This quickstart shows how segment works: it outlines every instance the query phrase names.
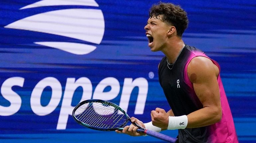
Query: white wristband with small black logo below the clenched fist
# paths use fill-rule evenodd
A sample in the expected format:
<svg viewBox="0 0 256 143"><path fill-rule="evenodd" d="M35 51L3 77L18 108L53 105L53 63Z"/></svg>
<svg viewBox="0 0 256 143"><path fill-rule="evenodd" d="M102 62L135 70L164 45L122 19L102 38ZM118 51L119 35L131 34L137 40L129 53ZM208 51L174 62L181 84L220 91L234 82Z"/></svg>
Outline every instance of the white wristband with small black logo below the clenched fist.
<svg viewBox="0 0 256 143"><path fill-rule="evenodd" d="M188 125L188 117L183 116L169 116L169 124L167 129L185 129Z"/></svg>

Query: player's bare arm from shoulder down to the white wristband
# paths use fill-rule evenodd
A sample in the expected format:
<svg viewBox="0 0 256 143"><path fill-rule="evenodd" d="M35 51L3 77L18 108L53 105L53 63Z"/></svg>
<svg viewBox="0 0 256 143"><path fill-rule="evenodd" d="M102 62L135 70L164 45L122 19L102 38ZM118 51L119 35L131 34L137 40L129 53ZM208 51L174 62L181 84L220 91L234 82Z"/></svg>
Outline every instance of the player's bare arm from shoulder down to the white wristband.
<svg viewBox="0 0 256 143"><path fill-rule="evenodd" d="M222 117L218 67L206 57L198 56L188 65L188 76L203 108L187 115L187 128L202 127L219 122Z"/></svg>

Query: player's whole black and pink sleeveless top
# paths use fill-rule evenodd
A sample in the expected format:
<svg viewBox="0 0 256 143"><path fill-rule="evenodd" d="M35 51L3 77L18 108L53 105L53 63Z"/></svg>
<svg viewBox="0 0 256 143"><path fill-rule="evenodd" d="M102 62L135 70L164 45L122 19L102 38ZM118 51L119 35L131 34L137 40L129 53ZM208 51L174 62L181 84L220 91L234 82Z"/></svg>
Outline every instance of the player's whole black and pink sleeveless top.
<svg viewBox="0 0 256 143"><path fill-rule="evenodd" d="M166 57L159 64L159 82L175 116L188 115L203 108L187 73L189 62L196 56L209 58L202 51L185 45L172 67L167 66ZM218 63L212 59L211 61L220 70ZM221 121L205 127L179 129L179 143L238 143L233 117L220 74L217 81L222 107Z"/></svg>

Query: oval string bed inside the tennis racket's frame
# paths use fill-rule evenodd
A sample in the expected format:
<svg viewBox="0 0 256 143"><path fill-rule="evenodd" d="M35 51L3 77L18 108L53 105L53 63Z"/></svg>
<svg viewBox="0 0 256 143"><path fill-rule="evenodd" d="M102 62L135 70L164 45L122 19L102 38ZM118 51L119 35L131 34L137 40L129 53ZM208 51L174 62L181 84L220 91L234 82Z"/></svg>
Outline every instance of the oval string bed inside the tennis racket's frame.
<svg viewBox="0 0 256 143"><path fill-rule="evenodd" d="M106 103L86 103L76 109L74 115L80 122L99 128L121 127L127 117L118 108Z"/></svg>

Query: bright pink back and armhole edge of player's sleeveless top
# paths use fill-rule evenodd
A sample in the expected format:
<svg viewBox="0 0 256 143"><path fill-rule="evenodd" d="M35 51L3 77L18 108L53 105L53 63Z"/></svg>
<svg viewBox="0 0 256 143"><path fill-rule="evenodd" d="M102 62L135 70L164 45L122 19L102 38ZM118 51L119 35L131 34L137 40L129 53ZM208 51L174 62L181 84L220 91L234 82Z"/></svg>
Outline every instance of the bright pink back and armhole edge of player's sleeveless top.
<svg viewBox="0 0 256 143"><path fill-rule="evenodd" d="M206 56L204 53L202 52L195 52L192 53L191 56L189 57L186 65L185 65L185 73L184 73L184 79L185 79L185 83L190 87L190 93L193 99L193 102L195 102L198 106L201 105L201 102L199 101L197 95L194 92L193 89L193 85L189 79L188 76L188 65L190 63L190 61L192 60L192 58L196 57L196 56L204 56L209 58L208 56ZM209 58L210 59L210 58ZM220 71L220 66L219 64L210 59L215 65L218 66L219 71ZM235 131L235 126L234 126L234 122L233 122L233 117L231 115L231 111L229 108L229 104L227 101L227 97L221 82L221 78L220 78L220 74L217 77L217 81L219 84L219 89L220 89L220 100L221 100L221 107L222 107L222 119L220 122L215 123L213 125L208 126L209 129L209 140L212 143L238 143L238 139L237 139L237 135L236 135L236 131Z"/></svg>

